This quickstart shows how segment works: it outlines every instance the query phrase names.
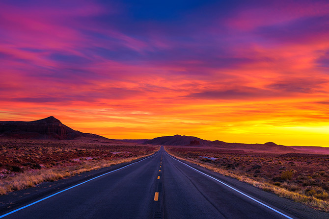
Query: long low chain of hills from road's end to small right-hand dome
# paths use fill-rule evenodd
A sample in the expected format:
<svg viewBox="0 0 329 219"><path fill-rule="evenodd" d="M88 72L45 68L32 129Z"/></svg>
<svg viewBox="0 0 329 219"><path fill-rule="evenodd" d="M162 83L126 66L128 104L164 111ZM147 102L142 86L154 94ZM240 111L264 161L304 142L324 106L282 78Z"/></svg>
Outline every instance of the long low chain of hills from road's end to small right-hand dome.
<svg viewBox="0 0 329 219"><path fill-rule="evenodd" d="M165 146L209 146L218 147L225 149L248 149L248 150L271 150L271 151L287 151L296 152L295 148L276 145L273 142L267 142L265 144L243 144L243 143L227 143L219 140L209 141L200 139L193 136L185 135L174 135L174 136L163 136L151 139L144 142L144 144L150 145L165 145Z"/></svg>

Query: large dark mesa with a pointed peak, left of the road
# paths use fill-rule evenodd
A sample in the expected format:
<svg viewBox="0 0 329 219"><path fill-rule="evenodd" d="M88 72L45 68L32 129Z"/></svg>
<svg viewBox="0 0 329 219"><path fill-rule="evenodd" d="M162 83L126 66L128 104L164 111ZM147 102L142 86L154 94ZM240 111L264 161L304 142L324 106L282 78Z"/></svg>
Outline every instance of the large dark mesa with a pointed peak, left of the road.
<svg viewBox="0 0 329 219"><path fill-rule="evenodd" d="M99 135L73 130L53 116L31 122L0 122L0 136L24 139L59 140L72 140L81 137L104 140L107 139Z"/></svg>

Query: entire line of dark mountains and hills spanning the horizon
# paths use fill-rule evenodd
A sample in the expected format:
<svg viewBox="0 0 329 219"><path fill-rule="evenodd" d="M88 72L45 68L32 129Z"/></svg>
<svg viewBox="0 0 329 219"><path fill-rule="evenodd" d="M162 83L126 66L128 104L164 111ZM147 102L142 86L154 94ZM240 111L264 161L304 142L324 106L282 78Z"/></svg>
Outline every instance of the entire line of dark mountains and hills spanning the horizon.
<svg viewBox="0 0 329 219"><path fill-rule="evenodd" d="M73 130L62 122L51 116L42 120L31 122L3 121L0 122L0 137L18 138L18 139L90 139L91 142L110 143L110 144L148 144L164 146L193 146L193 147L216 147L233 150L258 150L258 151L284 151L287 153L325 153L329 154L329 147L319 146L283 146L273 142L265 144L243 144L227 143L223 141L209 141L193 136L174 135L163 136L154 139L108 139L100 135L83 133Z"/></svg>

